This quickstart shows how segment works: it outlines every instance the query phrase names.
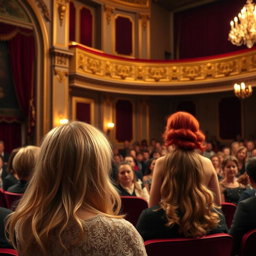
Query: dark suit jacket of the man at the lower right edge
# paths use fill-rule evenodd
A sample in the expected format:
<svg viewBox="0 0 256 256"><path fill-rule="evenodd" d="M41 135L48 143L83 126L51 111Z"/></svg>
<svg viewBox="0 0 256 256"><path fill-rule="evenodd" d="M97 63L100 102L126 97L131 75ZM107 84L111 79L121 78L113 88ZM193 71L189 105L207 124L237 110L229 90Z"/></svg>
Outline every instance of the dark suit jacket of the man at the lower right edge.
<svg viewBox="0 0 256 256"><path fill-rule="evenodd" d="M256 196L241 201L236 209L231 228L228 234L234 237L233 254L236 255L240 248L243 235L256 228Z"/></svg>

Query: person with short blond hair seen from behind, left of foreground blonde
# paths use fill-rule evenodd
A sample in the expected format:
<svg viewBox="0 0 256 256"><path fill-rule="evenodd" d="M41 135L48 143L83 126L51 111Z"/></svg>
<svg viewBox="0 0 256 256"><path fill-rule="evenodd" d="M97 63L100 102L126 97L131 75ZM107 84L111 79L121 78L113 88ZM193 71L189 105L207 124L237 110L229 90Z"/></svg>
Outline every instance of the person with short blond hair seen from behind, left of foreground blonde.
<svg viewBox="0 0 256 256"><path fill-rule="evenodd" d="M26 146L20 148L14 156L12 166L18 176L18 182L8 188L8 192L24 194L28 179L34 170L36 157L38 156L39 147Z"/></svg>

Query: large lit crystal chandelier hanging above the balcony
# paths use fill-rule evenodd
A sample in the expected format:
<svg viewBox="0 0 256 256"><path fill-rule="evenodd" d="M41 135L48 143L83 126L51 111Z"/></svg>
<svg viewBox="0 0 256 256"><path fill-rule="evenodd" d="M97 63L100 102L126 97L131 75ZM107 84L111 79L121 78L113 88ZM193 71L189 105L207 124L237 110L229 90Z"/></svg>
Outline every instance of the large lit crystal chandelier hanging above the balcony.
<svg viewBox="0 0 256 256"><path fill-rule="evenodd" d="M238 19L239 22L238 23ZM246 4L235 17L234 21L230 22L231 30L228 34L228 40L236 46L246 44L248 48L252 48L256 42L256 5L252 0L247 0Z"/></svg>

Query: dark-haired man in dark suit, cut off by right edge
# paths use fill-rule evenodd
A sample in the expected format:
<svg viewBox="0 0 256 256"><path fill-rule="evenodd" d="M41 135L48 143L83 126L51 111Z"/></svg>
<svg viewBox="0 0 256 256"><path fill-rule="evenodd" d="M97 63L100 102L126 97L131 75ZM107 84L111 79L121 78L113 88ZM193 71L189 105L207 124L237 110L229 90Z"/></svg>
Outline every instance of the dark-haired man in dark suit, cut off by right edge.
<svg viewBox="0 0 256 256"><path fill-rule="evenodd" d="M256 189L256 157L249 158L245 168L250 185ZM256 228L255 216L256 196L243 200L238 204L231 228L228 231L228 234L234 237L232 255L236 255L238 253L243 235Z"/></svg>

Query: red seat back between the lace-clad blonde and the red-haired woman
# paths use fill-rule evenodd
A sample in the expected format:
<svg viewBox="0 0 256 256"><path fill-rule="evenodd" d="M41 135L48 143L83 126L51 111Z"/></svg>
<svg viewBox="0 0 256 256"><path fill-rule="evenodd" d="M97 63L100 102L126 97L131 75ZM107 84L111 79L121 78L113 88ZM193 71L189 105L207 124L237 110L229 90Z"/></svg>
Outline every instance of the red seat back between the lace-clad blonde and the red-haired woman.
<svg viewBox="0 0 256 256"><path fill-rule="evenodd" d="M148 202L144 198L137 196L121 196L121 200L121 212L127 214L126 220L136 227L141 212L148 208Z"/></svg>

